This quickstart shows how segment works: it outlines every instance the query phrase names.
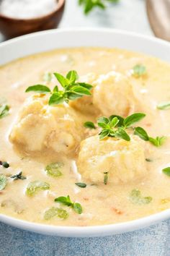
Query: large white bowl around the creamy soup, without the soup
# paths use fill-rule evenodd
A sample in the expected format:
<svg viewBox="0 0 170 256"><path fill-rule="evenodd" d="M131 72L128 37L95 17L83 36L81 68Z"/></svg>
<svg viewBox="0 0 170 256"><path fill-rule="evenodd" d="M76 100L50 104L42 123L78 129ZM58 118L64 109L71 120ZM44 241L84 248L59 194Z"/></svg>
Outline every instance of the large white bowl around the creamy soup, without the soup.
<svg viewBox="0 0 170 256"><path fill-rule="evenodd" d="M0 44L0 64L14 59L54 48L71 48L76 46L102 46L107 48L124 48L139 51L170 61L170 43L148 36L110 29L71 29L48 30L14 38ZM161 213L125 223L104 226L50 226L22 221L0 214L0 221L21 229L56 236L107 236L151 226L170 217L170 209Z"/></svg>

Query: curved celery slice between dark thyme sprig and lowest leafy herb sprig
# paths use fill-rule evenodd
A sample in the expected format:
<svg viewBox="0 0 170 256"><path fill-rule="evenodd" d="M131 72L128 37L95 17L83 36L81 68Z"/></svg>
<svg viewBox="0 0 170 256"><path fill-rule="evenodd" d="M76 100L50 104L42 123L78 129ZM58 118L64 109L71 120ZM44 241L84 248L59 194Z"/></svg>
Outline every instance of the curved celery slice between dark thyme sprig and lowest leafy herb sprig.
<svg viewBox="0 0 170 256"><path fill-rule="evenodd" d="M35 193L38 192L39 190L46 190L46 189L50 189L50 185L47 182L39 182L39 181L30 182L27 185L26 195L32 196L32 195L35 195Z"/></svg>

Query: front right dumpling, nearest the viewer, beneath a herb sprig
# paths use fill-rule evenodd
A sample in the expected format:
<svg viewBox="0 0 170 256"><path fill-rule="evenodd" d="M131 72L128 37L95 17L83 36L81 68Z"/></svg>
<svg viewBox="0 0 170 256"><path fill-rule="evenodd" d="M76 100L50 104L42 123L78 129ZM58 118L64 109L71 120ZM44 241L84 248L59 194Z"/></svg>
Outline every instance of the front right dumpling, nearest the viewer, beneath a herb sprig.
<svg viewBox="0 0 170 256"><path fill-rule="evenodd" d="M126 183L139 179L147 173L143 141L133 135L130 141L99 136L81 142L77 166L82 177L89 182Z"/></svg>

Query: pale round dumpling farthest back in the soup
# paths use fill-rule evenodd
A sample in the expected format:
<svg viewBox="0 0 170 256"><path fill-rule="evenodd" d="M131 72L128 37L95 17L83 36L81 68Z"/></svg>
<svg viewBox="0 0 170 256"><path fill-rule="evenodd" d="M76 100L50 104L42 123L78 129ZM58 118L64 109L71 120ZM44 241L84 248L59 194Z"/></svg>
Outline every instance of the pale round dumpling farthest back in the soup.
<svg viewBox="0 0 170 256"><path fill-rule="evenodd" d="M118 72L101 74L94 82L93 103L104 116L128 116L135 106L132 85Z"/></svg>

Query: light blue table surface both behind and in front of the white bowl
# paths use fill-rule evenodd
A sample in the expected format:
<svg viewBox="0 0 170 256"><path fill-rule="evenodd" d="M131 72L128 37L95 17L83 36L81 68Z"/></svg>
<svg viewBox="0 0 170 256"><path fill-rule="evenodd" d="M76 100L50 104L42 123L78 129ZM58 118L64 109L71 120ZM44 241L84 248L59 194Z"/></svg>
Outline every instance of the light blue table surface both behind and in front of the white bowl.
<svg viewBox="0 0 170 256"><path fill-rule="evenodd" d="M105 12L95 11L87 17L76 2L67 0L60 27L114 27L153 35L143 0L120 0L119 5ZM170 221L164 221L127 234L76 239L34 234L0 223L0 256L169 256L169 229Z"/></svg>

